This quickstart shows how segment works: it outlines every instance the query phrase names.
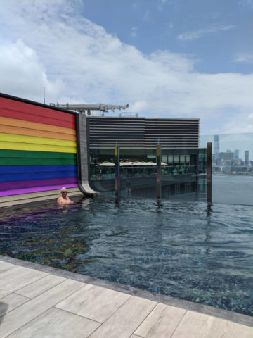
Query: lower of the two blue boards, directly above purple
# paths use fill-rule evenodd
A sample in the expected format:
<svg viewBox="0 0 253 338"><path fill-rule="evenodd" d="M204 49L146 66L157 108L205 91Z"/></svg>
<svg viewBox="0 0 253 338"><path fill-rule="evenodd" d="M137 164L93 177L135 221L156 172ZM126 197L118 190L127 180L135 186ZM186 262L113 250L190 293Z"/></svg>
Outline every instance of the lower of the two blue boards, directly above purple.
<svg viewBox="0 0 253 338"><path fill-rule="evenodd" d="M2 174L0 182L26 181L26 180L44 180L47 178L77 177L76 171L56 171L54 173L18 173Z"/></svg>

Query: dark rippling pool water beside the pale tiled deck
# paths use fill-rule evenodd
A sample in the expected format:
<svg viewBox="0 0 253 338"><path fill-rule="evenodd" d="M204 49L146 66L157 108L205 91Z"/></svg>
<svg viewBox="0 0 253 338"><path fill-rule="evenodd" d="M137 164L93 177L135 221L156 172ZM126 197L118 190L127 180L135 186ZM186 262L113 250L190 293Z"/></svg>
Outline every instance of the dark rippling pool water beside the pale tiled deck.
<svg viewBox="0 0 253 338"><path fill-rule="evenodd" d="M251 206L82 199L0 213L0 253L253 315Z"/></svg>

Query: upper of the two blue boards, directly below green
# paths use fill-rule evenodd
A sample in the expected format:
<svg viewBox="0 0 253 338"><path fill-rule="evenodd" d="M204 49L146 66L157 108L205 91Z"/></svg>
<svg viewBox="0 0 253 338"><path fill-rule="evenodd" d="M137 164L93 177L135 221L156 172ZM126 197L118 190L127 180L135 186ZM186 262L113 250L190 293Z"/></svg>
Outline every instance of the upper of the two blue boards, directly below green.
<svg viewBox="0 0 253 338"><path fill-rule="evenodd" d="M77 172L77 165L0 165L0 174Z"/></svg>

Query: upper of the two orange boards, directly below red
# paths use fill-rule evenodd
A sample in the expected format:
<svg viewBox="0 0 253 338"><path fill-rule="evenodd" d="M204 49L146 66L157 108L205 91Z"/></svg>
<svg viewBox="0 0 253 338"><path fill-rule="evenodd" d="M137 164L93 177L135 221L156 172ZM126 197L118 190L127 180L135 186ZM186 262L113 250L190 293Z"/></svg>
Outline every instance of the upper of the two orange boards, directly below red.
<svg viewBox="0 0 253 338"><path fill-rule="evenodd" d="M75 135L74 129L57 127L56 125L45 125L44 123L30 122L25 120L18 120L15 118L4 118L0 116L0 125L9 125L11 127L23 127L32 130L45 130L46 132L58 132L60 134Z"/></svg>

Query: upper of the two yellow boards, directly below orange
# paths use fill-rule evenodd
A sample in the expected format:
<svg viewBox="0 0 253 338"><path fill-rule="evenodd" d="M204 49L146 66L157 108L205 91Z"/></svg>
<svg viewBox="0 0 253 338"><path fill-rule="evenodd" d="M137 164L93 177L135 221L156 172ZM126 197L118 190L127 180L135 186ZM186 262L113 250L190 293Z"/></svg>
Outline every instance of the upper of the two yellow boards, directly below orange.
<svg viewBox="0 0 253 338"><path fill-rule="evenodd" d="M0 142L18 142L28 144L50 144L52 146L77 146L77 142L65 139L48 139L46 137L24 136L0 133Z"/></svg>

